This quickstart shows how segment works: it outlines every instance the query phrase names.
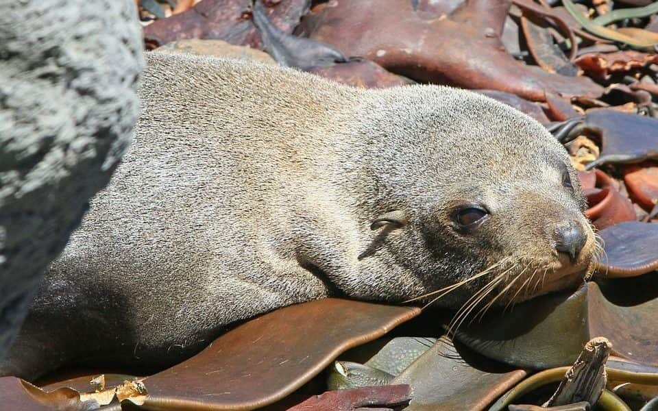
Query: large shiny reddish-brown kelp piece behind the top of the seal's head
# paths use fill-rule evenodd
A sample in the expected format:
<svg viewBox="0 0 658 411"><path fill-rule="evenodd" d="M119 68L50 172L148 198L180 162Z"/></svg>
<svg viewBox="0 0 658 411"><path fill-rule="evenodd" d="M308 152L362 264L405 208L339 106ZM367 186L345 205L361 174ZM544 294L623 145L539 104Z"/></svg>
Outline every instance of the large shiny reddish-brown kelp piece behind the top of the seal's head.
<svg viewBox="0 0 658 411"><path fill-rule="evenodd" d="M544 100L546 90L589 97L602 92L590 79L547 73L507 53L500 36L509 1L469 0L433 19L407 0L329 4L304 18L302 32L417 81L501 90L533 101Z"/></svg>

